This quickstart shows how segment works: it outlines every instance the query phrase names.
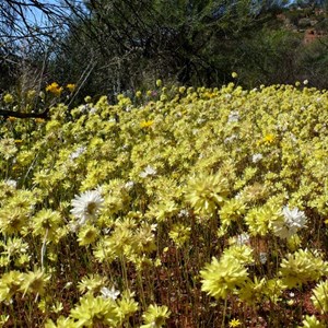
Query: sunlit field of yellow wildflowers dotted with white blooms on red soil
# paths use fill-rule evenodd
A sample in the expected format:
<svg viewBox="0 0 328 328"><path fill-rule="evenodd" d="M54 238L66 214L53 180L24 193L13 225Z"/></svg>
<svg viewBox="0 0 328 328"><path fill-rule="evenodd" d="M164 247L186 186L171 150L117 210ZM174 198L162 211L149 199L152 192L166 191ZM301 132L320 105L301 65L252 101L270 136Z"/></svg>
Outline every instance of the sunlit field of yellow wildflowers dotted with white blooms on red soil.
<svg viewBox="0 0 328 328"><path fill-rule="evenodd" d="M0 326L328 327L327 124L233 83L1 118Z"/></svg>

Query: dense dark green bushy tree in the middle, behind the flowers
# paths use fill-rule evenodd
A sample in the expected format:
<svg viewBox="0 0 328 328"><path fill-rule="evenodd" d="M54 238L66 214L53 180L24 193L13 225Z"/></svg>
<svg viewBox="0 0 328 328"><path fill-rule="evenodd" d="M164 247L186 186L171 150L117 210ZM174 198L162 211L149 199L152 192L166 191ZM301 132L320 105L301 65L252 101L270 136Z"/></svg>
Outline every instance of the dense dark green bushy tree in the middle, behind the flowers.
<svg viewBox="0 0 328 328"><path fill-rule="evenodd" d="M86 0L84 8L71 7L55 66L79 79L92 63L84 86L93 94L99 86L107 94L148 87L156 78L218 85L231 77L241 38L262 24L277 1L269 2Z"/></svg>

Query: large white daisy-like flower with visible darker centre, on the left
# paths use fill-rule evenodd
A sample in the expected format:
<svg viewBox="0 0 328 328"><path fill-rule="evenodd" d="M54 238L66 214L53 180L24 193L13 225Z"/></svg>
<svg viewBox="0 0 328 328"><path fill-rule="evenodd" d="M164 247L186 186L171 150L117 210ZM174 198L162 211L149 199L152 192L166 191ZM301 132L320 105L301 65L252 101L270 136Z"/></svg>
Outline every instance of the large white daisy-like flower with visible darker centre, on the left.
<svg viewBox="0 0 328 328"><path fill-rule="evenodd" d="M79 224L84 224L89 219L95 219L103 206L104 199L98 190L87 190L75 195L72 200L71 213L79 220Z"/></svg>

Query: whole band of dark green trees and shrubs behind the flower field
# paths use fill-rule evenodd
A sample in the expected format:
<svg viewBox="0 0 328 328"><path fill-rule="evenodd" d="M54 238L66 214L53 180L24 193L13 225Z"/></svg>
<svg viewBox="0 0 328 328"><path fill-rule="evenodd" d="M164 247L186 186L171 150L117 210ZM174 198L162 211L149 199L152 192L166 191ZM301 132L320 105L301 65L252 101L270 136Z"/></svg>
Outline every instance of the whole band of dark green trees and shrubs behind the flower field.
<svg viewBox="0 0 328 328"><path fill-rule="evenodd" d="M73 81L77 104L86 94L114 99L147 90L157 78L221 85L231 81L231 71L247 87L304 79L326 87L326 42L305 46L301 31L316 22L314 28L327 33L327 14L316 12L321 2L303 1L296 10L288 1L5 0L0 87L16 87L24 74L31 77L25 90ZM36 10L43 23L33 21Z"/></svg>

